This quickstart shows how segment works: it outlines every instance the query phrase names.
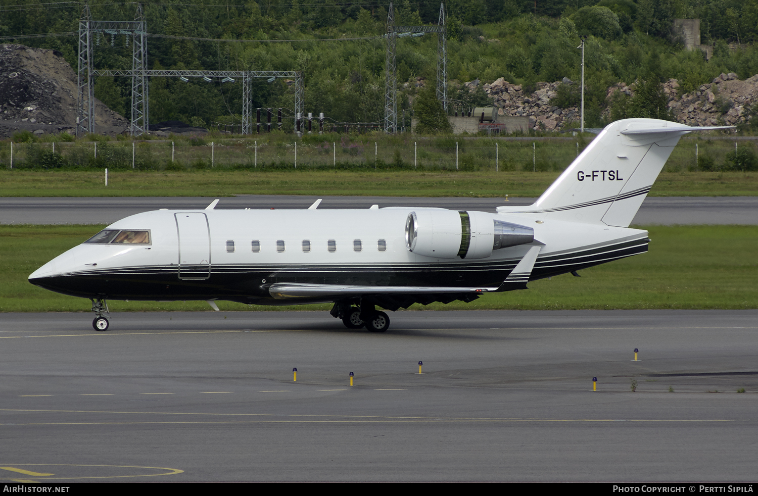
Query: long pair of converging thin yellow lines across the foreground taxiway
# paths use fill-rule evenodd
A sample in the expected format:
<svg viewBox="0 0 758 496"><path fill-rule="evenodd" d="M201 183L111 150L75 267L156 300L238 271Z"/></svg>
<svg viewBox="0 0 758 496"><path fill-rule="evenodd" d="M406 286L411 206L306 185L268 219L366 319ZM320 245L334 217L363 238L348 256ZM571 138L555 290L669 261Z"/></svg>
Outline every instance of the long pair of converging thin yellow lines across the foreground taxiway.
<svg viewBox="0 0 758 496"><path fill-rule="evenodd" d="M289 392L289 391L261 391ZM98 410L32 410L20 408L0 408L4 412L36 413L115 413L124 415L196 415L196 416L238 416L238 417L275 417L276 420L187 420L166 422L68 422L68 423L13 423L15 426L67 426L97 424L143 424L143 423L340 423L340 422L506 422L506 423L555 423L555 422L650 422L650 423L695 423L695 422L735 422L728 419L546 419L518 417L468 417L468 416L390 416L390 415L306 415L278 413L193 413L193 412L124 412ZM298 420L282 420L290 417ZM312 418L315 420L299 420Z"/></svg>

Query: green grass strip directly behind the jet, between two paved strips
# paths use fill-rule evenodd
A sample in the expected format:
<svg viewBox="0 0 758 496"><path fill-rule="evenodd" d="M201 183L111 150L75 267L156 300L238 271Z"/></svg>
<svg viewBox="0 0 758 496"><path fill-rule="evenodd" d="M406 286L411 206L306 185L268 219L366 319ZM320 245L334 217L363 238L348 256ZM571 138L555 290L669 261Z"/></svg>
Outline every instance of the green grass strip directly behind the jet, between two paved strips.
<svg viewBox="0 0 758 496"><path fill-rule="evenodd" d="M102 226L0 226L0 311L89 311L89 301L40 289L27 276ZM469 304L416 309L745 309L758 307L758 226L650 226L650 252L571 275L529 283L530 289L484 295ZM210 310L205 302L110 301L114 311ZM326 310L330 305L221 310Z"/></svg>

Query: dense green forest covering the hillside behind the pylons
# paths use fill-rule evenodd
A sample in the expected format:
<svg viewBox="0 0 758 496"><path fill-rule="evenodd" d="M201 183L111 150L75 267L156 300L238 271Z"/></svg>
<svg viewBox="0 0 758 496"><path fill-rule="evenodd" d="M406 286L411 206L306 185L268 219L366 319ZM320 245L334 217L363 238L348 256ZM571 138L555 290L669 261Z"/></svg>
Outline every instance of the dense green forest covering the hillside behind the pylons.
<svg viewBox="0 0 758 496"><path fill-rule="evenodd" d="M134 2L92 0L94 20L133 20ZM149 68L204 70L302 70L305 112L350 123L384 117L389 2L324 0L180 0L143 2ZM484 105L484 92L465 82L504 77L525 88L540 81L578 80L580 36L585 45L587 126L601 126L614 105L609 86L636 80L678 80L691 92L719 73L740 79L758 73L758 0L447 0L449 111ZM440 2L399 0L396 25L437 24ZM0 42L55 48L77 67L77 36L83 2L0 0ZM677 18L699 18L701 43L688 51L673 30ZM27 37L45 33L56 36ZM70 34L60 34L70 33ZM127 36L98 36L99 69L129 68ZM399 110L412 112L416 93L434 85L437 35L398 39ZM285 80L253 83L252 105L293 112L293 88ZM96 96L120 114L129 108L130 81L101 76ZM152 78L150 121L183 120L196 126L235 123L242 88L234 83ZM575 103L575 90L559 98ZM608 112L605 113L608 115Z"/></svg>

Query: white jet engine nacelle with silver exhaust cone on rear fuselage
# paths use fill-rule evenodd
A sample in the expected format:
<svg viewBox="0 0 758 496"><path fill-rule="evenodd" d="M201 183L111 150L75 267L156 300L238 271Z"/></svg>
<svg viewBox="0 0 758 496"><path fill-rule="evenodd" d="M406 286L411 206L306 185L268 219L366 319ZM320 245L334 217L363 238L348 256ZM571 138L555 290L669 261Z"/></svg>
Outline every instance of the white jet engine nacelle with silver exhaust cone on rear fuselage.
<svg viewBox="0 0 758 496"><path fill-rule="evenodd" d="M406 248L436 258L486 258L534 241L534 229L478 211L420 210L406 218Z"/></svg>

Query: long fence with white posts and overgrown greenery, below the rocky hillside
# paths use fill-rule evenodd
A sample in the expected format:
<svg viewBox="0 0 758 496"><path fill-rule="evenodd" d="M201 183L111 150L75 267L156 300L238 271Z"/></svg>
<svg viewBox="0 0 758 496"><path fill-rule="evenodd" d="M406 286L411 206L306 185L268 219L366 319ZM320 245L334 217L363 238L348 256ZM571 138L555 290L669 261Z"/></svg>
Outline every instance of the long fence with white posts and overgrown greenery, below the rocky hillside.
<svg viewBox="0 0 758 496"><path fill-rule="evenodd" d="M292 139L180 139L99 142L0 142L7 169L201 170L337 168L341 170L559 171L584 144L571 138L379 141L346 136ZM685 170L754 170L755 139L682 139L666 164ZM752 164L752 165L751 165Z"/></svg>

